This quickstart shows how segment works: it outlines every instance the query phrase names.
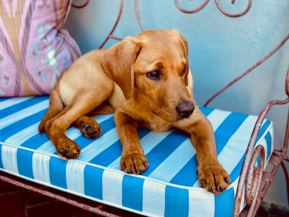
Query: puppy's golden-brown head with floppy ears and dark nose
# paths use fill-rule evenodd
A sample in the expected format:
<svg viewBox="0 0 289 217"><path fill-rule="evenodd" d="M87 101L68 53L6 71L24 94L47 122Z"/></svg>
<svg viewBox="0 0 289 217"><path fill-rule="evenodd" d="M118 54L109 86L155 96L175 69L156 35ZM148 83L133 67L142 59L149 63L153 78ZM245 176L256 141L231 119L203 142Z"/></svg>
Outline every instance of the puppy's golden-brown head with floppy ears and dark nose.
<svg viewBox="0 0 289 217"><path fill-rule="evenodd" d="M106 51L103 71L126 99L138 91L151 111L168 122L194 111L188 86L188 43L177 30L148 30L127 37Z"/></svg>

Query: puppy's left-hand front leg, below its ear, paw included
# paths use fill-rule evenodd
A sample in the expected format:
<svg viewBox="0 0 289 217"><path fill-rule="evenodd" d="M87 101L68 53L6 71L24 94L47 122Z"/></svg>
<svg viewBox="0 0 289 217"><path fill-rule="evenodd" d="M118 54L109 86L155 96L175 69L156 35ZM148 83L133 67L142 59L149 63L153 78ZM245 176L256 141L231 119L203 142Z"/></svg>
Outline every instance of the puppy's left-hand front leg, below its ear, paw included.
<svg viewBox="0 0 289 217"><path fill-rule="evenodd" d="M114 114L114 122L123 146L120 169L129 174L141 174L149 167L138 137L138 124L121 111Z"/></svg>

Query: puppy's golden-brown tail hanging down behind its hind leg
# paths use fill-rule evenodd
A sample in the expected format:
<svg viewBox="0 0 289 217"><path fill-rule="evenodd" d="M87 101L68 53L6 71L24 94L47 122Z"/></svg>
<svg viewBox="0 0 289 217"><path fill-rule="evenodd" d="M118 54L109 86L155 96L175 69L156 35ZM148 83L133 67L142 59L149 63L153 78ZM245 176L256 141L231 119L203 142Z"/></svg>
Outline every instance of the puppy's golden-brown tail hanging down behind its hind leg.
<svg viewBox="0 0 289 217"><path fill-rule="evenodd" d="M49 108L38 126L38 131L40 133L44 133L46 122L49 121L51 118L55 117L58 113L60 113L62 109L63 103L58 92L58 83L57 83L55 85L55 88L51 91L49 97Z"/></svg>

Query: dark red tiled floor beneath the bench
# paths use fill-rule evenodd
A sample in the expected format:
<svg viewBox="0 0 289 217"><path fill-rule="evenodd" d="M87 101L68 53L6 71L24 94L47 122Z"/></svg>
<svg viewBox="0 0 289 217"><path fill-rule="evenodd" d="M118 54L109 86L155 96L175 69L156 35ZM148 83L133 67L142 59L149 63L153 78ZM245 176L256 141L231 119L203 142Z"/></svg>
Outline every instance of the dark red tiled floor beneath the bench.
<svg viewBox="0 0 289 217"><path fill-rule="evenodd" d="M0 171L0 176L6 176L15 180L20 180L28 185L38 187L55 194L60 194L64 197L71 198L75 201L85 203L92 207L99 203L51 189L42 185L34 184L15 176L3 173ZM141 215L132 214L121 209L105 206L104 211L108 211L118 216L135 216ZM27 190L16 185L0 181L0 216L1 217L100 217L101 215L89 212L87 210L69 205L62 201L44 196L42 194ZM276 206L262 204L257 212L257 217L288 217L289 210L281 209Z"/></svg>

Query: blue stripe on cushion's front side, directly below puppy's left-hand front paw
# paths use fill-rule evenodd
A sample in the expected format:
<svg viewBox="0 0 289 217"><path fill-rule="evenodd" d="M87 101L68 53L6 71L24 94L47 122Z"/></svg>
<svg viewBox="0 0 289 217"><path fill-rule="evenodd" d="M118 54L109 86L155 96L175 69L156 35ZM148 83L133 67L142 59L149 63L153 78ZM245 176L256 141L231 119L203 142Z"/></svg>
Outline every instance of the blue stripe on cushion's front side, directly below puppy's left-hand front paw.
<svg viewBox="0 0 289 217"><path fill-rule="evenodd" d="M123 176L122 202L124 207L142 211L142 189L144 179L134 176Z"/></svg>

